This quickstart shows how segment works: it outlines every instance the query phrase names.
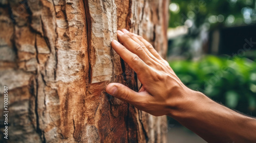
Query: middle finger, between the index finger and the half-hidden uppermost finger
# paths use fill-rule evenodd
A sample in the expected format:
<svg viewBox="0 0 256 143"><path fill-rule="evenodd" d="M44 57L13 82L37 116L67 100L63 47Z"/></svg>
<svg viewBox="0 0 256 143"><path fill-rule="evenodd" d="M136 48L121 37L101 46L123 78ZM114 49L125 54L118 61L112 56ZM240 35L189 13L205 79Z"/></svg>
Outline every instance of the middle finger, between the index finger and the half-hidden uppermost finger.
<svg viewBox="0 0 256 143"><path fill-rule="evenodd" d="M138 55L141 60L143 60L145 63L150 60L150 57L145 53L145 51L142 49L142 47L135 42L130 36L127 34L124 34L122 31L117 31L117 37L118 40L132 53Z"/></svg>

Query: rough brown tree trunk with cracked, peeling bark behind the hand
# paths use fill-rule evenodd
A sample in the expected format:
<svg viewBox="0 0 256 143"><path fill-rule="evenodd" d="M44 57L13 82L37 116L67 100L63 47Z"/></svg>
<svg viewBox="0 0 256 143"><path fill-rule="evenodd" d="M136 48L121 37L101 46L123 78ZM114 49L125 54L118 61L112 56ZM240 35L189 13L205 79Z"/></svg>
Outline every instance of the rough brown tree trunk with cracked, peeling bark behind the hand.
<svg viewBox="0 0 256 143"><path fill-rule="evenodd" d="M137 76L111 48L126 28L166 52L167 0L1 0L0 109L9 93L9 139L0 142L166 142L166 117L105 93ZM3 125L1 125L3 132Z"/></svg>

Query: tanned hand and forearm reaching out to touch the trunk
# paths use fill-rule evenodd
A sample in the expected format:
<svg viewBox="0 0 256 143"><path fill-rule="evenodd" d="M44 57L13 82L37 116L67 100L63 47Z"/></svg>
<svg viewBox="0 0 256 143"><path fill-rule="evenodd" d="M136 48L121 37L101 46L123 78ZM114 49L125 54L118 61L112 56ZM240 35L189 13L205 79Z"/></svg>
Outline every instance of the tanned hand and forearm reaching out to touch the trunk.
<svg viewBox="0 0 256 143"><path fill-rule="evenodd" d="M168 115L207 142L256 142L256 119L226 108L186 87L154 47L125 29L111 42L137 73L139 92L110 83L106 92L155 116Z"/></svg>

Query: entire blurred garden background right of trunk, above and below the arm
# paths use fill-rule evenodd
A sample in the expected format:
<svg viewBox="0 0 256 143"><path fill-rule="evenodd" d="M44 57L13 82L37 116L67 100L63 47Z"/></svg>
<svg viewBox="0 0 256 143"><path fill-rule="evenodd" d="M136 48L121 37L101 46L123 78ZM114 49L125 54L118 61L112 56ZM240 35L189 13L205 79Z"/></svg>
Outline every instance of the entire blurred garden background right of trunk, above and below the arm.
<svg viewBox="0 0 256 143"><path fill-rule="evenodd" d="M181 81L256 116L256 1L172 0L169 13L167 60ZM172 118L168 126L172 142L205 142Z"/></svg>

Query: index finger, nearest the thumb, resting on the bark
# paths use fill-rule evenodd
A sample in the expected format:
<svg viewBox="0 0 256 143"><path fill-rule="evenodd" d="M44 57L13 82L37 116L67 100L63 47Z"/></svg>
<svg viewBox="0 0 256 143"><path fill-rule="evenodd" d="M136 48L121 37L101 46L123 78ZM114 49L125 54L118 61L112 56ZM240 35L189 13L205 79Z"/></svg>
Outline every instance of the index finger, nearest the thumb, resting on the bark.
<svg viewBox="0 0 256 143"><path fill-rule="evenodd" d="M126 47L120 44L117 40L113 40L111 45L116 53L137 73L139 78L141 75L147 76L146 73L149 70L149 66L137 55L127 50Z"/></svg>

